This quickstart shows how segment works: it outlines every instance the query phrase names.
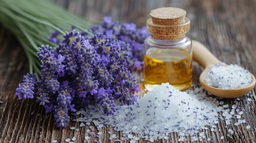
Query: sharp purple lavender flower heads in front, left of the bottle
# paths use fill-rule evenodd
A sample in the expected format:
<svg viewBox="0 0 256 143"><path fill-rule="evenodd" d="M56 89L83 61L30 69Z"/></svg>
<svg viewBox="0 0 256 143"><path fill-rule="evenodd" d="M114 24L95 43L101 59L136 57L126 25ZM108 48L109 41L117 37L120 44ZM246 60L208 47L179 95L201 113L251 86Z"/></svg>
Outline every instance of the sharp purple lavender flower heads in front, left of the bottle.
<svg viewBox="0 0 256 143"><path fill-rule="evenodd" d="M116 111L115 100L123 105L137 102L135 76L127 69L131 47L103 34L66 33L55 49L41 46L41 78L24 76L17 88L19 99L33 98L54 112L58 128L65 128L69 112L100 104L107 115Z"/></svg>

